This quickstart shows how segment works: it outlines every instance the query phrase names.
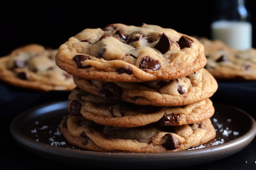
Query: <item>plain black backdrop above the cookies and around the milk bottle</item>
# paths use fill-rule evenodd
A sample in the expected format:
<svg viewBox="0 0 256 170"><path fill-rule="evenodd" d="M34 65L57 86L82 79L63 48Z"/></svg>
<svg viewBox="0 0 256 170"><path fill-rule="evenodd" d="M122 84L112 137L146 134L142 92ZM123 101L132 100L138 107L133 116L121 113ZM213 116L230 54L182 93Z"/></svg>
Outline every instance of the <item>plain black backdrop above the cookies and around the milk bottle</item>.
<svg viewBox="0 0 256 170"><path fill-rule="evenodd" d="M223 2L223 0L221 0ZM231 2L232 0L228 0ZM58 48L85 28L110 23L141 26L143 22L188 35L211 38L210 24L218 0L175 1L4 1L0 4L0 56L21 45L38 43ZM247 0L256 47L256 2ZM219 7L218 7L219 8Z"/></svg>

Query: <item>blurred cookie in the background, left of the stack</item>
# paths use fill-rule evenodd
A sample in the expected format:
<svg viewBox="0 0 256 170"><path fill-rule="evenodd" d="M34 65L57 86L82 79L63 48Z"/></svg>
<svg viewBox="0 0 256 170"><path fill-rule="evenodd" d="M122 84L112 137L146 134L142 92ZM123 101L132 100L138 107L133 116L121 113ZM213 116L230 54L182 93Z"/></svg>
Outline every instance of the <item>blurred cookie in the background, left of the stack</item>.
<svg viewBox="0 0 256 170"><path fill-rule="evenodd" d="M28 44L0 57L0 79L13 86L38 91L72 90L72 75L56 65L58 49Z"/></svg>

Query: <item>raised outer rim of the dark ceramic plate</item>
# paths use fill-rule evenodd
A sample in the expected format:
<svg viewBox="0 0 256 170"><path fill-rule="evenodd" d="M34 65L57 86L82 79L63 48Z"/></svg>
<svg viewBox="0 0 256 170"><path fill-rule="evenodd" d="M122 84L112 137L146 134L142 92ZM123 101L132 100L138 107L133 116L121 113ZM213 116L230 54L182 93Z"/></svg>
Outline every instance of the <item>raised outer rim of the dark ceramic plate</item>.
<svg viewBox="0 0 256 170"><path fill-rule="evenodd" d="M193 166L202 163L209 163L212 161L216 161L219 159L223 159L230 155L233 155L243 148L245 148L256 136L256 121L255 119L246 113L244 110L240 108L236 108L235 106L230 106L227 104L221 104L217 102L213 102L213 105L222 105L225 107L233 108L238 110L240 113L243 113L250 120L250 128L247 132L245 132L240 137L233 139L231 141L227 141L224 144L219 144L216 146L209 146L205 148L198 148L194 150L182 150L178 152L164 152L164 153L122 153L122 152L94 152L87 150L77 150L72 148L63 148L58 146L51 146L49 144L45 144L40 141L36 141L31 139L20 130L18 130L17 126L19 121L32 114L33 111L38 110L40 108L44 108L47 106L56 105L56 110L65 109L68 101L57 101L50 102L46 104L42 104L40 106L33 107L31 109L25 110L24 112L17 115L12 121L10 125L11 136L15 141L25 150L31 152L34 155L38 155L40 157L44 157L47 159L52 159L58 162L64 162L72 165L78 166L86 166L90 168L133 168L134 165L132 163L137 163L137 168L146 168L146 169L154 169L154 168L170 168L170 163L173 162L175 164L171 164L172 168L179 168L184 166ZM54 111L54 110L49 110ZM47 112L46 112L47 113ZM44 113L44 114L46 114ZM249 122L248 122L249 123ZM35 150L37 152L35 152ZM211 152L211 159L207 159L207 155ZM222 154L217 154L222 152ZM178 155L178 156L177 156ZM181 157L186 158L186 165L184 165L184 159L180 159ZM113 159L118 159L118 161L113 161ZM200 163L198 161L194 161L195 159L201 159ZM102 163L97 163L101 161ZM90 162L88 164L87 162ZM103 163L104 162L104 163ZM115 166L113 167L113 162L115 162ZM167 164L168 162L168 164ZM159 163L163 165L163 167L159 167ZM101 165L103 164L103 165ZM136 165L137 165L136 164ZM166 167L165 167L166 166Z"/></svg>

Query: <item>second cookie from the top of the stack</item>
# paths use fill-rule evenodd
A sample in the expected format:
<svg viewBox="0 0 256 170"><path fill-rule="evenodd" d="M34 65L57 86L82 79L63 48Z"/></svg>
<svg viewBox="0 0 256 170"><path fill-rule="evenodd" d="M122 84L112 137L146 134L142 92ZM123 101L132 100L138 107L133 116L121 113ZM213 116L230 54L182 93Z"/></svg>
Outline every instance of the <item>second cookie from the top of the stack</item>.
<svg viewBox="0 0 256 170"><path fill-rule="evenodd" d="M79 88L104 99L153 106L200 102L211 97L218 88L216 79L204 68L186 77L166 81L129 83L73 78Z"/></svg>

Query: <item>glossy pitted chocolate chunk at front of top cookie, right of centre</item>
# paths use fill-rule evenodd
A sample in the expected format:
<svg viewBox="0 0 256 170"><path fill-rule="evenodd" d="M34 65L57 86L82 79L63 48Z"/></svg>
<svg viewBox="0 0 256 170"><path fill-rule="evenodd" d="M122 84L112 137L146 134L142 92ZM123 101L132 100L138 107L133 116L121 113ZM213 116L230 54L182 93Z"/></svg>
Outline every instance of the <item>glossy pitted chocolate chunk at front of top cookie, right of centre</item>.
<svg viewBox="0 0 256 170"><path fill-rule="evenodd" d="M152 60L149 56L145 56L139 62L140 68L148 68L153 71L159 70L161 64L158 60Z"/></svg>

